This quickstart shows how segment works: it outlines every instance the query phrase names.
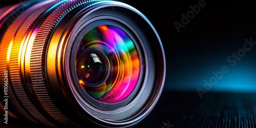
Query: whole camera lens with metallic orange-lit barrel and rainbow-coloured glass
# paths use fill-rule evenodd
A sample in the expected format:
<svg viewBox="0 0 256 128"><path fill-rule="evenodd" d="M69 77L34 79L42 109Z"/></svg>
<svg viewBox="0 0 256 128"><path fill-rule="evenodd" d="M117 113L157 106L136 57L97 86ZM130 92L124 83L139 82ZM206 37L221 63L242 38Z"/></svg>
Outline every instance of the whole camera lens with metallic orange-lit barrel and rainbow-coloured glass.
<svg viewBox="0 0 256 128"><path fill-rule="evenodd" d="M165 57L141 12L85 0L6 8L0 9L0 94L9 116L50 127L129 127L153 110Z"/></svg>

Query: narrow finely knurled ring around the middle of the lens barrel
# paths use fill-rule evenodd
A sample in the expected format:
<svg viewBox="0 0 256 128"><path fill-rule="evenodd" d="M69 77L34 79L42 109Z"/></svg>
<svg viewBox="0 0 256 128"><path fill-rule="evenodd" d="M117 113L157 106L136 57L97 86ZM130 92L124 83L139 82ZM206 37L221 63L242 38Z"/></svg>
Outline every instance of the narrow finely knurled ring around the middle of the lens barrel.
<svg viewBox="0 0 256 128"><path fill-rule="evenodd" d="M58 122L65 124L72 123L54 104L49 87L47 85L46 72L45 72L45 55L49 41L49 37L52 33L53 28L56 26L60 18L65 15L68 11L75 7L86 4L91 1L67 1L56 8L46 18L44 23L39 28L37 35L34 39L31 56L30 56L30 73L34 92L39 99L41 105L45 111L52 116Z"/></svg>

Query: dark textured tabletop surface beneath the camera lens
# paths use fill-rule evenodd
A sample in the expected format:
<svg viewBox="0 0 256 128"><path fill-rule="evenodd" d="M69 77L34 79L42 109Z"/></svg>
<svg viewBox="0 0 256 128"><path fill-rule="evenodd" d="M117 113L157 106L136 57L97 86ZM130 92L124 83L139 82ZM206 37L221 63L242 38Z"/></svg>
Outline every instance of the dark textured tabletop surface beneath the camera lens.
<svg viewBox="0 0 256 128"><path fill-rule="evenodd" d="M256 127L256 94L163 92L154 110L135 128L142 127ZM3 127L45 127L10 120Z"/></svg>

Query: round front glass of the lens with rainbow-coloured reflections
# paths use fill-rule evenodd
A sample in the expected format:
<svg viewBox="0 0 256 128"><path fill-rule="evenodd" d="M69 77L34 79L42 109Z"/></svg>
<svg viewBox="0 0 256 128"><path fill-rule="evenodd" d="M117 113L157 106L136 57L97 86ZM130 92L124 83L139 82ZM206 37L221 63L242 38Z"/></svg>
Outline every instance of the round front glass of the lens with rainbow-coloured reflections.
<svg viewBox="0 0 256 128"><path fill-rule="evenodd" d="M92 98L117 103L135 89L140 59L134 42L121 29L93 28L81 40L76 55L78 80Z"/></svg>

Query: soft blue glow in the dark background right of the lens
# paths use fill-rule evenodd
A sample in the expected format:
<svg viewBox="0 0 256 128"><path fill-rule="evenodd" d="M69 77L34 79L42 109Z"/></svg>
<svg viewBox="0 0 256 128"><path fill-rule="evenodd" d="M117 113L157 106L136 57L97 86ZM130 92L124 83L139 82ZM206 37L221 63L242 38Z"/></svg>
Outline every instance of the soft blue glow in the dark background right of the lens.
<svg viewBox="0 0 256 128"><path fill-rule="evenodd" d="M170 68L167 69L165 90L195 92L200 88L206 92L256 93L256 46L251 45L251 49L243 53L244 48L250 48L248 40L255 44L256 38L246 35L238 39L232 36L234 40L230 40L231 37L208 38L199 40L208 45L167 61ZM239 59L233 57L234 54ZM220 75L222 67L226 67L227 72Z"/></svg>

